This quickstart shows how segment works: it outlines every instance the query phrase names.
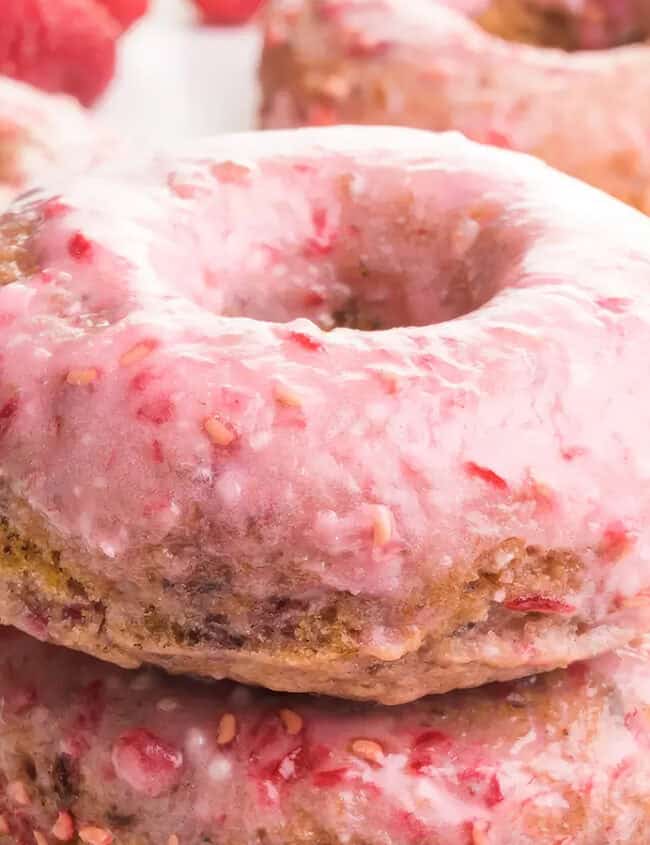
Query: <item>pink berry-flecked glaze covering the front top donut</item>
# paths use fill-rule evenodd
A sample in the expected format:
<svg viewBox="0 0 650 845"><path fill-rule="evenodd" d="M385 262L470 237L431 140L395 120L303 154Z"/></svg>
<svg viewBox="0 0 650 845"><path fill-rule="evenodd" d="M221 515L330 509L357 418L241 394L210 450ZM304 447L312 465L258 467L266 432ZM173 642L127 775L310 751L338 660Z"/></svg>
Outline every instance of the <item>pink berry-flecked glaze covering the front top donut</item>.
<svg viewBox="0 0 650 845"><path fill-rule="evenodd" d="M167 544L182 580L198 544L252 594L290 567L396 599L519 537L584 562L547 610L648 624L645 217L400 129L224 137L52 193L42 269L0 289L0 472L100 574ZM355 303L395 328L318 327Z"/></svg>

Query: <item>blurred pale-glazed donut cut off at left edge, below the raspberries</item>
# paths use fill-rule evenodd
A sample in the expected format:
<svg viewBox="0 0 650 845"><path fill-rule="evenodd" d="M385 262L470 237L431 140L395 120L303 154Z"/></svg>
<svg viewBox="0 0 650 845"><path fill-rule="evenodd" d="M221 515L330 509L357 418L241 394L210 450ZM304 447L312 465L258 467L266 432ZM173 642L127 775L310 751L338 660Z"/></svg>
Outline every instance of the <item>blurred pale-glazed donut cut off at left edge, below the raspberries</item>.
<svg viewBox="0 0 650 845"><path fill-rule="evenodd" d="M0 208L54 167L83 166L98 136L72 99L0 76Z"/></svg>

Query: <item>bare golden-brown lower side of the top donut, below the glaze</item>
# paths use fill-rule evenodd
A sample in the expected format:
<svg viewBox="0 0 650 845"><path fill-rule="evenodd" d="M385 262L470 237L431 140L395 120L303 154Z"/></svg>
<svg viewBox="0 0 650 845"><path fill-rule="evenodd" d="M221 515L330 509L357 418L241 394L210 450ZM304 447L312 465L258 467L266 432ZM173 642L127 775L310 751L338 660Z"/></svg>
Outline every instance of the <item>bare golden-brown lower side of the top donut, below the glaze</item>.
<svg viewBox="0 0 650 845"><path fill-rule="evenodd" d="M143 548L134 565L148 572L146 582L122 590L99 578L87 552L57 537L23 503L6 493L0 502L10 514L0 517L0 618L125 667L150 662L173 673L399 704L426 690L545 671L561 660L568 641L579 658L608 637L624 643L635 630L633 623L626 627L624 605L618 627L612 609L609 630L565 617L562 596L584 577L580 559L516 537L392 608L336 592L318 603L301 601L289 581L256 601L230 588L235 572L201 562L200 542L191 581L179 586L161 578L157 562L168 547ZM505 596L501 604L495 592ZM423 614L436 620L426 635L418 625ZM408 650L368 648L363 625L391 617ZM491 645L495 631L498 650Z"/></svg>

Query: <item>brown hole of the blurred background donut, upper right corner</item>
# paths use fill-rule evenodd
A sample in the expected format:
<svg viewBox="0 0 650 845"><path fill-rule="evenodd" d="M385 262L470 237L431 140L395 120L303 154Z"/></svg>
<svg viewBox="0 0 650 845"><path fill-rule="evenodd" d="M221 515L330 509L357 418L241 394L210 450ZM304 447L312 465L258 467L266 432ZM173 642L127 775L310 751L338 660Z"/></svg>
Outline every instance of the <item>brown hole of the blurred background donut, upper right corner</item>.
<svg viewBox="0 0 650 845"><path fill-rule="evenodd" d="M643 3L588 0L573 11L558 0L491 0L475 18L487 32L506 41L554 47L568 52L603 50L650 37L650 9Z"/></svg>

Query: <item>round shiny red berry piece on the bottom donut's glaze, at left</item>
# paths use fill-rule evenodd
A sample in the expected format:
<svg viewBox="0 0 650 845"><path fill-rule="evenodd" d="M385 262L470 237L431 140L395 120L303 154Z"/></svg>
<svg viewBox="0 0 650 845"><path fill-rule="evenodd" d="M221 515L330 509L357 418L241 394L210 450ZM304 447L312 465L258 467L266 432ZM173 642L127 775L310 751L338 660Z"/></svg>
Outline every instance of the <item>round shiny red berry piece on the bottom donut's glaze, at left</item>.
<svg viewBox="0 0 650 845"><path fill-rule="evenodd" d="M183 753L165 740L139 728L122 734L113 746L113 767L120 780L136 792L157 798L179 782Z"/></svg>

